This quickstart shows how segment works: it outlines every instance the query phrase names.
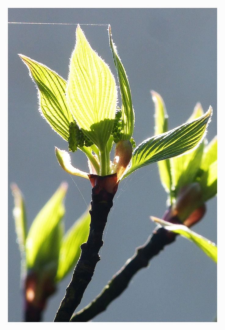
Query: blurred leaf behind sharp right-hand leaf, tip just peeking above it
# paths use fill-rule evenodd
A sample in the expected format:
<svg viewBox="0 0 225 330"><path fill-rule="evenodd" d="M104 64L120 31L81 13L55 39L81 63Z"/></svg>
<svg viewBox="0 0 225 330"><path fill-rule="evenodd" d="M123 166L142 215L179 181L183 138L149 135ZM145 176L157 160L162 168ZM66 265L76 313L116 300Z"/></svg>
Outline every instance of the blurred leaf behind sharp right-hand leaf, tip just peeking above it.
<svg viewBox="0 0 225 330"><path fill-rule="evenodd" d="M193 114L188 121L195 120L196 118L203 116L203 114L204 112L201 104L197 103ZM172 185L173 189L175 189L175 195L181 187L194 181L202 161L205 142L203 142L197 149L170 159Z"/></svg>

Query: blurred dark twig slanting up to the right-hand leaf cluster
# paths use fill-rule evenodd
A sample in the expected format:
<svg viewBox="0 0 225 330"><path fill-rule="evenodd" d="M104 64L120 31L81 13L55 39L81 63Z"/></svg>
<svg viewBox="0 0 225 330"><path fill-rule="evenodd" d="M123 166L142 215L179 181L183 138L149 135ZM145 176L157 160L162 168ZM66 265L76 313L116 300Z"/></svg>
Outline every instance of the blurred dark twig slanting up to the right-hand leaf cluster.
<svg viewBox="0 0 225 330"><path fill-rule="evenodd" d="M169 232L162 227L156 227L146 243L137 248L133 257L127 260L125 265L107 283L102 292L88 306L73 314L70 321L87 322L105 311L108 305L126 289L132 277L141 268L147 267L149 260L157 255L167 244L174 242L176 236L177 234Z"/></svg>

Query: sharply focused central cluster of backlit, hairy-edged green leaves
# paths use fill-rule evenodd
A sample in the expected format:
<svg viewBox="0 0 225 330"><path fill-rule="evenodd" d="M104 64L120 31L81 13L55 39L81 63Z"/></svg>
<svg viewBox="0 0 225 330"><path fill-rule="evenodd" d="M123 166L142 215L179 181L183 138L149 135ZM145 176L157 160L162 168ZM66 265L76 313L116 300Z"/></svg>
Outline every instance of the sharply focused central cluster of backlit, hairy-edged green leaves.
<svg viewBox="0 0 225 330"><path fill-rule="evenodd" d="M80 149L87 155L91 174L105 176L114 173L115 166L110 161L113 143L130 141L132 147L136 147L132 138L135 116L130 85L113 43L110 26L109 42L118 76L122 100L121 109L117 107L116 84L110 68L91 48L79 25L76 37L75 49L70 60L68 81L29 57L21 54L20 57L28 66L30 75L37 85L41 114L50 126L69 142L70 151ZM158 105L158 107L162 108L162 105ZM117 168L121 174L118 181L138 168L175 157L198 146L206 134L212 109L209 107L206 114L202 113L198 118L190 118L187 123L170 131L167 131L163 109L159 112L156 135L135 148L131 163L124 168L123 172ZM163 125L163 128L160 125ZM57 155L59 155L59 151L56 152ZM63 157L66 159L64 160ZM120 157L123 158L126 155L121 154ZM70 157L66 151L60 153L58 161L69 173L79 172L77 169L71 170ZM69 168L66 167L68 162L70 163ZM169 171L169 161L161 164L164 164L160 165L161 167L168 168L168 173L164 171L163 174L165 177L163 184L172 191L174 182L172 182ZM87 173L85 177L88 178Z"/></svg>

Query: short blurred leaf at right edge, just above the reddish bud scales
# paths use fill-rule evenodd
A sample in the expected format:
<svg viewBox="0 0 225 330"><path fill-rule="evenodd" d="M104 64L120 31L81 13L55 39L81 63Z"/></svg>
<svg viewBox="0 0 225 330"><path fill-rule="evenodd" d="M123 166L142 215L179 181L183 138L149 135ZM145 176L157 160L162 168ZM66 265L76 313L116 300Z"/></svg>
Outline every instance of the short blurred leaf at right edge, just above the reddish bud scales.
<svg viewBox="0 0 225 330"><path fill-rule="evenodd" d="M217 194L217 160L209 165L208 170L201 176L199 184L203 191L203 202Z"/></svg>

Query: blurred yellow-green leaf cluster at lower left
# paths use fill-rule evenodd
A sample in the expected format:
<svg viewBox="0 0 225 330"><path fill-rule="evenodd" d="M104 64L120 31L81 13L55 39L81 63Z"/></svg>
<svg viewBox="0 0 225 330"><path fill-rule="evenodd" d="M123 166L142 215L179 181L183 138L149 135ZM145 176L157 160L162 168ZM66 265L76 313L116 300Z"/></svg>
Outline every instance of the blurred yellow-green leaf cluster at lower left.
<svg viewBox="0 0 225 330"><path fill-rule="evenodd" d="M16 184L11 186L15 208L16 234L23 260L22 273L34 271L51 274L55 283L61 281L80 257L80 245L89 233L90 215L87 210L64 234L64 197L67 184L62 183L32 222L27 232L24 198ZM23 274L24 275L24 274Z"/></svg>

